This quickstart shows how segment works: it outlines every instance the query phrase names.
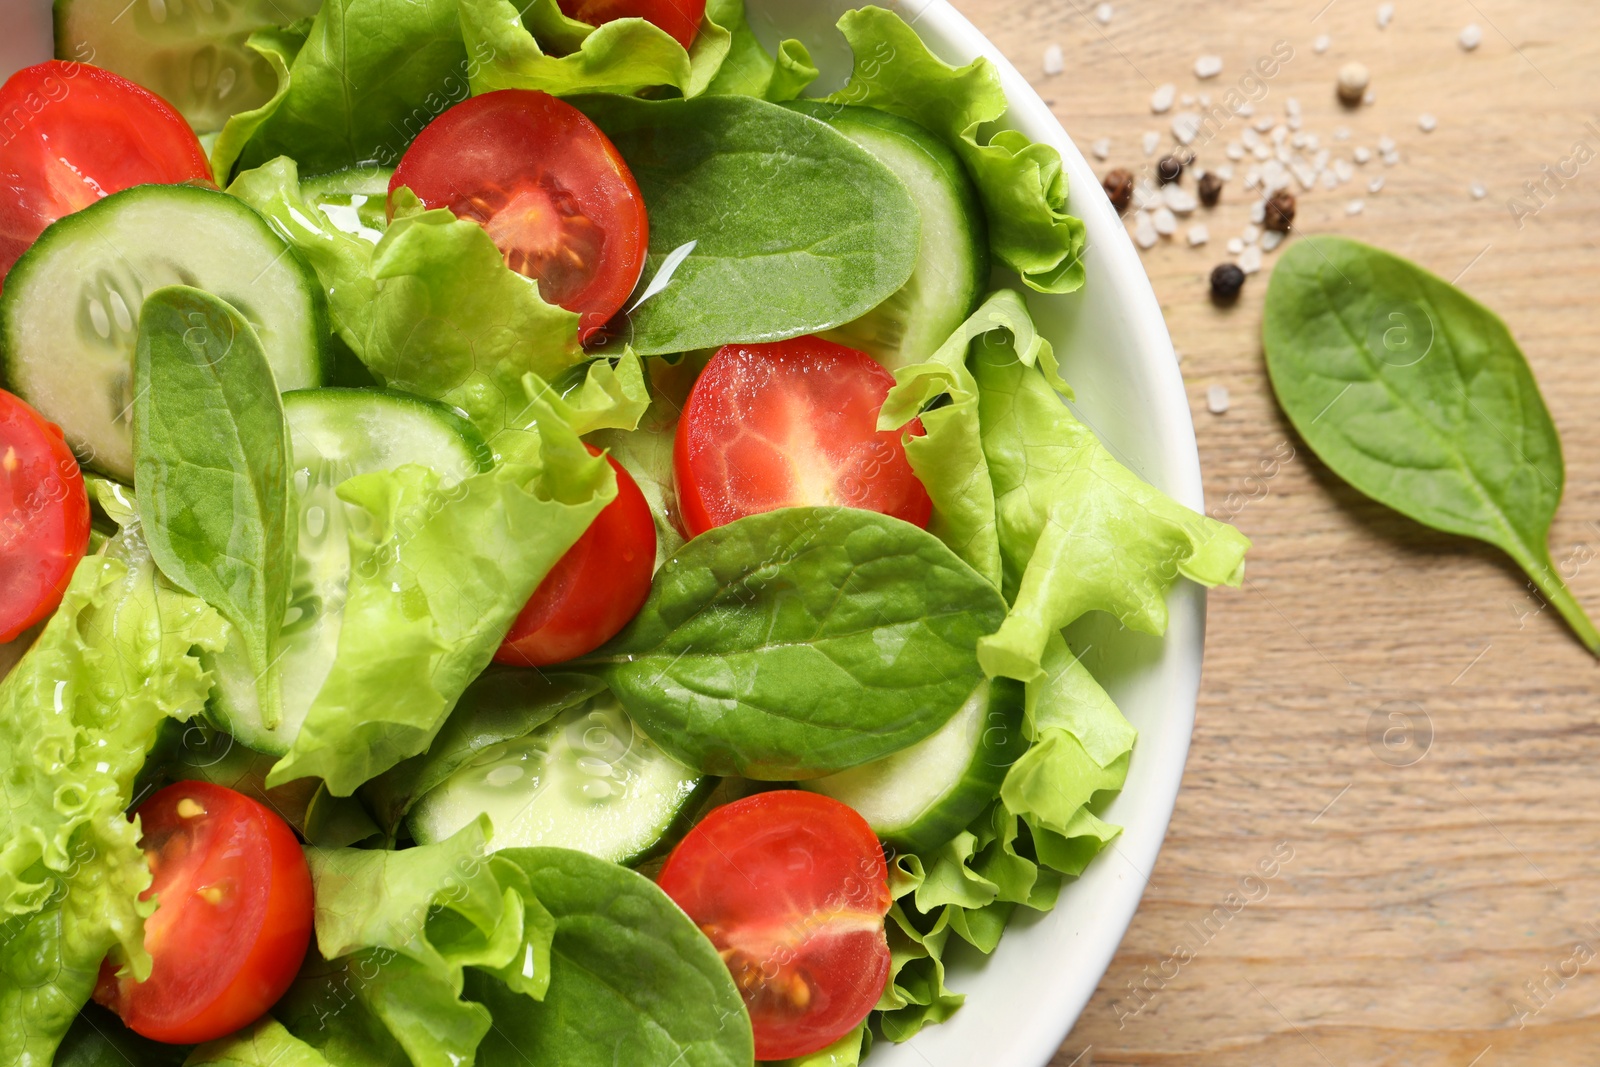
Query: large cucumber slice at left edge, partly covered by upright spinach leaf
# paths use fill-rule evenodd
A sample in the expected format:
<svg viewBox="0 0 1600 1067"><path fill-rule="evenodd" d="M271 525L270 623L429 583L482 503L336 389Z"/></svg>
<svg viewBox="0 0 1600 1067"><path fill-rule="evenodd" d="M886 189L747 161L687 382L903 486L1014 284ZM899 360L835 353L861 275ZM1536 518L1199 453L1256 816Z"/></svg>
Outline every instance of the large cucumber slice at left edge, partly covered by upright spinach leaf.
<svg viewBox="0 0 1600 1067"><path fill-rule="evenodd" d="M243 202L136 186L50 226L0 294L3 384L90 466L133 482L133 349L146 293L192 285L261 336L278 389L320 386L328 301L317 275Z"/></svg>

